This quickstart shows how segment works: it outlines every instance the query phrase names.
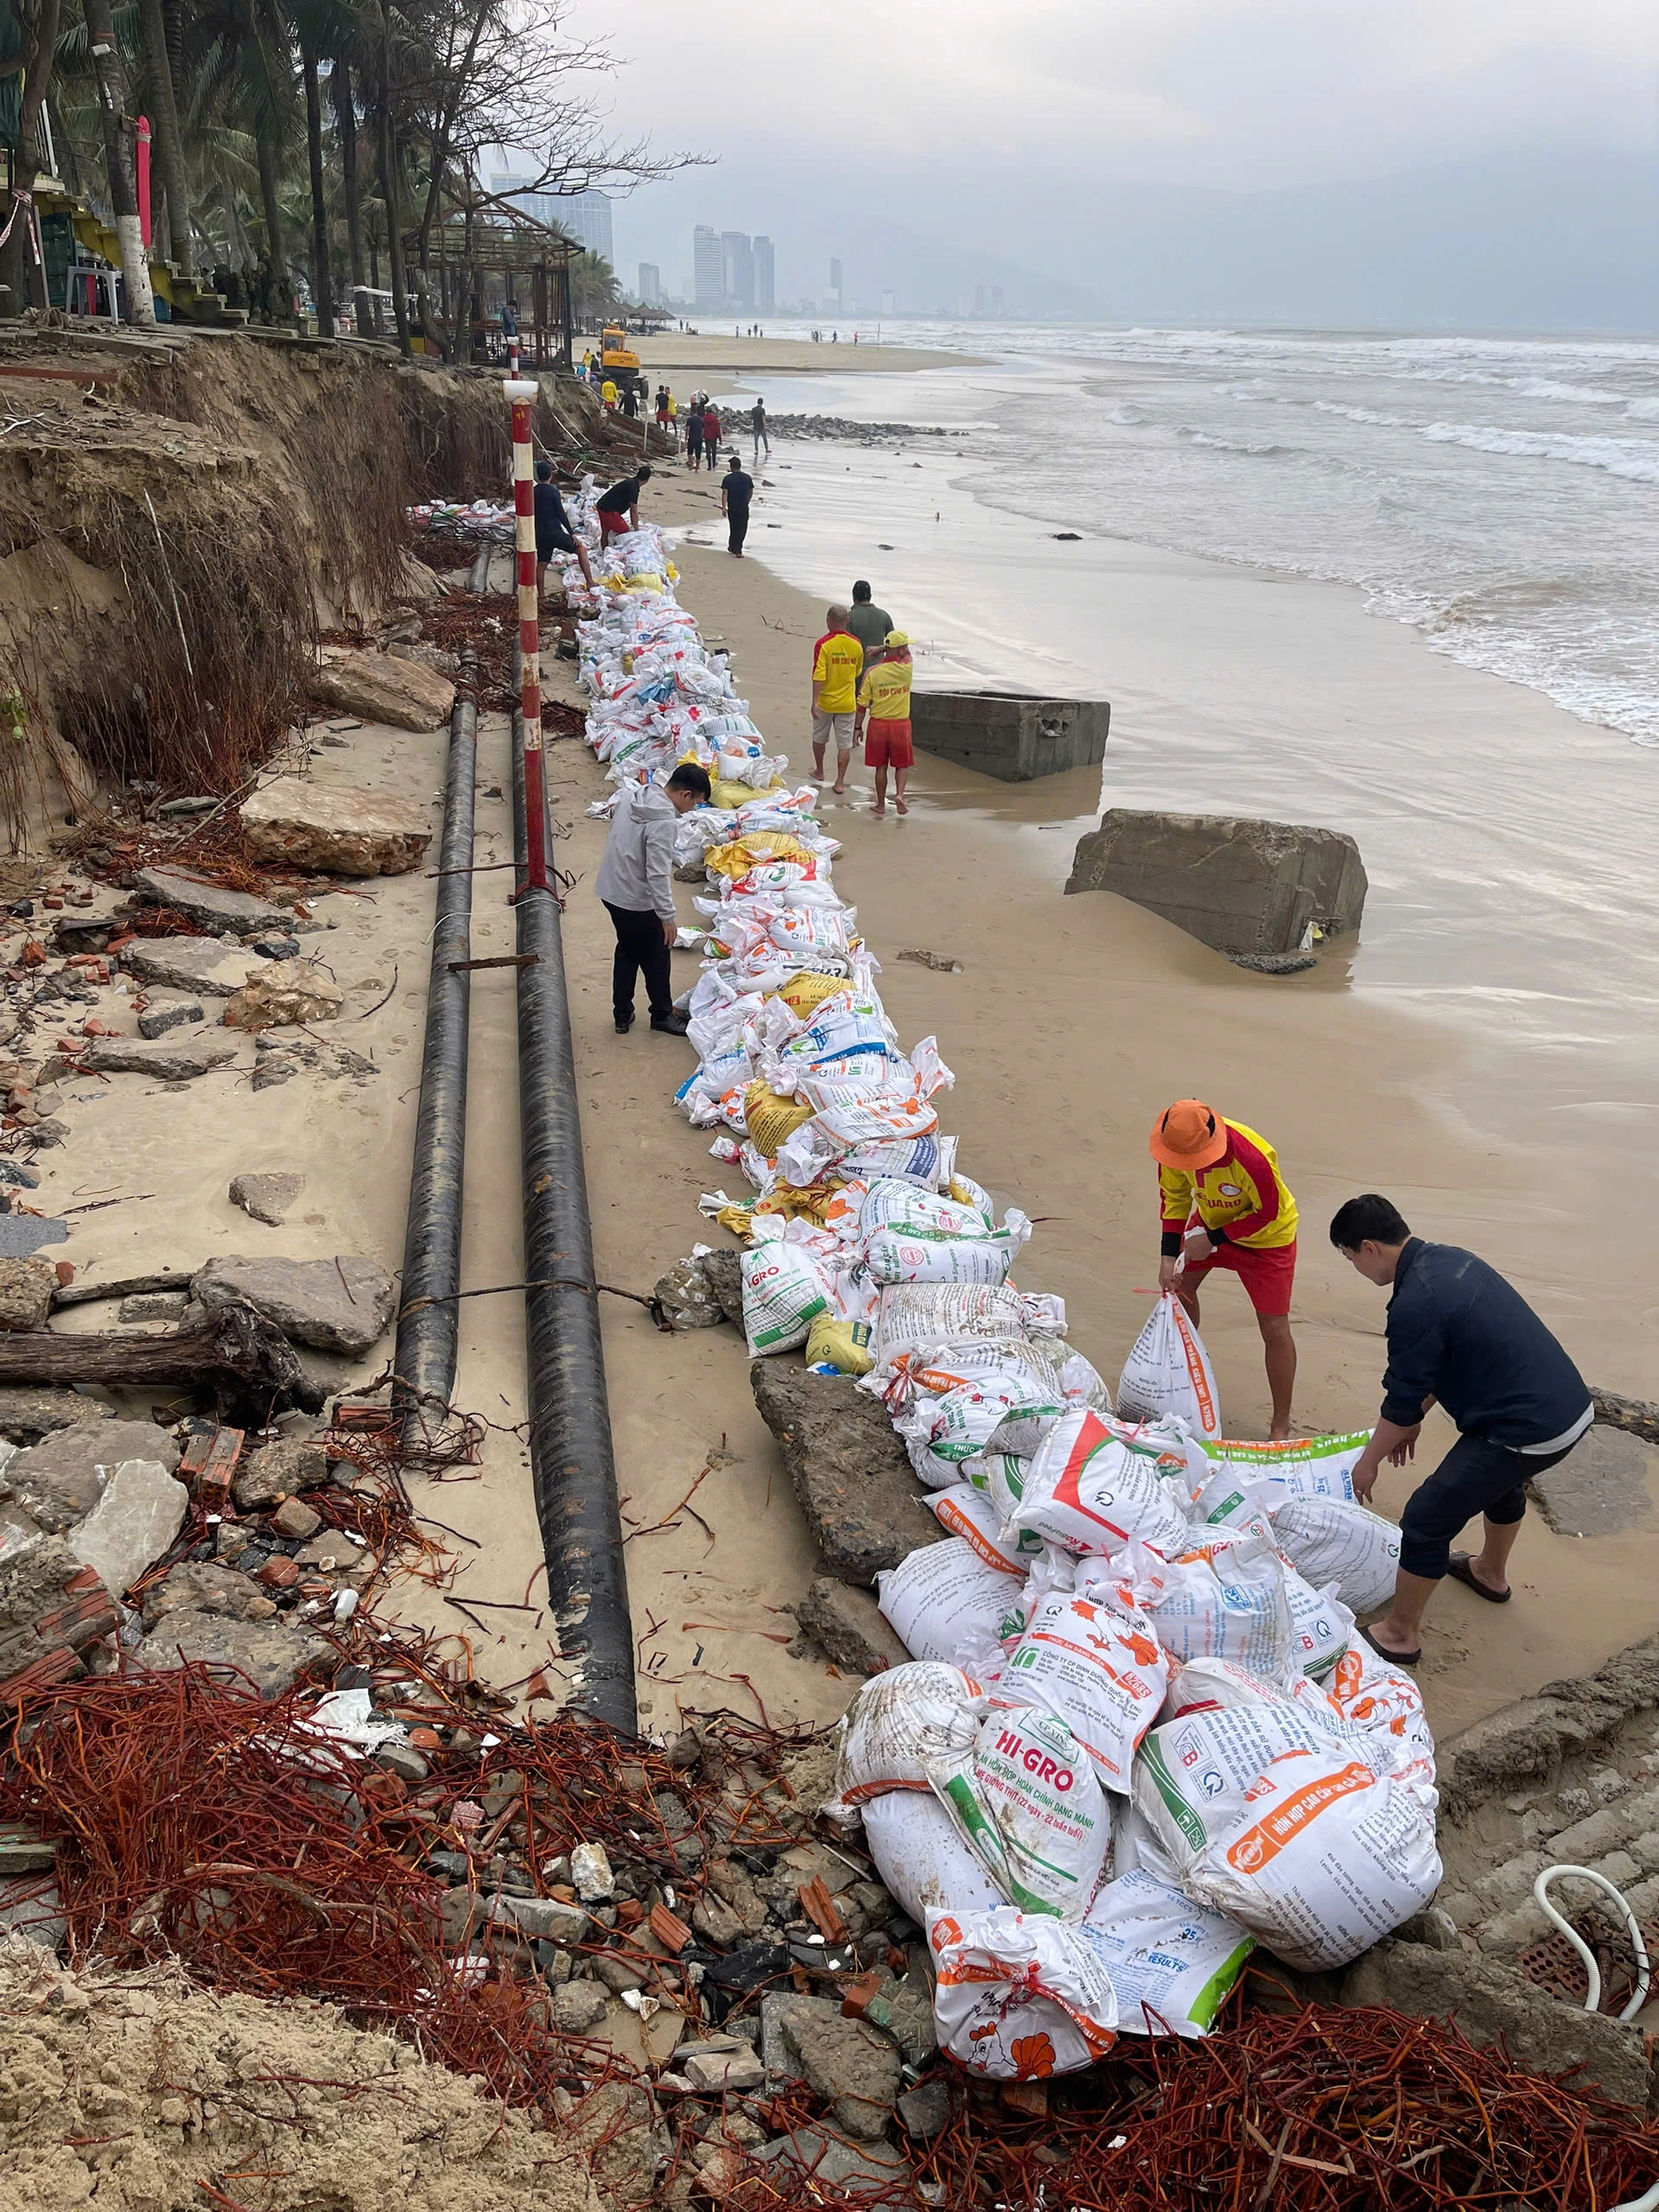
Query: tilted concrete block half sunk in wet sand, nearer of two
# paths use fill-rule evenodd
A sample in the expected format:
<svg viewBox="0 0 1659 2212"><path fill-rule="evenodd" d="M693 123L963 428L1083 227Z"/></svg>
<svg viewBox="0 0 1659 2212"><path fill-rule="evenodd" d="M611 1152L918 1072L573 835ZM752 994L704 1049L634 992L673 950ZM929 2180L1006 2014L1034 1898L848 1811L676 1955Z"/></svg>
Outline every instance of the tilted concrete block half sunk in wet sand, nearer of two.
<svg viewBox="0 0 1659 2212"><path fill-rule="evenodd" d="M1068 891L1117 891L1234 956L1298 951L1307 925L1358 929L1360 849L1340 830L1113 807L1077 841Z"/></svg>

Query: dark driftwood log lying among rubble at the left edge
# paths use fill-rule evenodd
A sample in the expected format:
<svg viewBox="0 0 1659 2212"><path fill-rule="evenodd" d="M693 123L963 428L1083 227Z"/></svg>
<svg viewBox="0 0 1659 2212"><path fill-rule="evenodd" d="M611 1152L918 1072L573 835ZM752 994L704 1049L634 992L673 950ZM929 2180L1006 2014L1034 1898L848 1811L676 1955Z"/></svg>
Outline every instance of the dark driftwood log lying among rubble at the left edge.
<svg viewBox="0 0 1659 2212"><path fill-rule="evenodd" d="M0 1329L0 1385L104 1383L108 1387L184 1385L212 1394L221 1411L272 1407L323 1411L283 1332L252 1305L219 1305L195 1329L166 1336L66 1336L53 1329Z"/></svg>

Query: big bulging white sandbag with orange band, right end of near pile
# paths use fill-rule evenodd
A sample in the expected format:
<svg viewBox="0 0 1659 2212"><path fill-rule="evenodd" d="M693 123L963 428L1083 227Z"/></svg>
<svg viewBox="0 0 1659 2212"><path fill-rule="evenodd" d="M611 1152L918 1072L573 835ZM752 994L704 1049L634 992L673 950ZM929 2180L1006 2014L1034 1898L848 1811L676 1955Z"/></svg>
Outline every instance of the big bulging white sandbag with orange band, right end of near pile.
<svg viewBox="0 0 1659 2212"><path fill-rule="evenodd" d="M1345 1966L1440 1887L1433 1814L1360 1759L1276 1759L1234 1829L1188 1863L1181 1887L1287 1966Z"/></svg>

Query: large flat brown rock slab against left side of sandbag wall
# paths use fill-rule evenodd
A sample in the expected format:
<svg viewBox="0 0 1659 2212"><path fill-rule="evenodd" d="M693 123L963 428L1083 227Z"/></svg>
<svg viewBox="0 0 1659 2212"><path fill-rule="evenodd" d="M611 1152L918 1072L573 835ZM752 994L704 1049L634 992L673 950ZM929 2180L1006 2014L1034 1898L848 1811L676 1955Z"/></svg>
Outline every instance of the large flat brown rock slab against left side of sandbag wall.
<svg viewBox="0 0 1659 2212"><path fill-rule="evenodd" d="M814 1376L794 1360L754 1360L750 1383L832 1575L869 1584L878 1568L940 1542L876 1398L849 1376Z"/></svg>

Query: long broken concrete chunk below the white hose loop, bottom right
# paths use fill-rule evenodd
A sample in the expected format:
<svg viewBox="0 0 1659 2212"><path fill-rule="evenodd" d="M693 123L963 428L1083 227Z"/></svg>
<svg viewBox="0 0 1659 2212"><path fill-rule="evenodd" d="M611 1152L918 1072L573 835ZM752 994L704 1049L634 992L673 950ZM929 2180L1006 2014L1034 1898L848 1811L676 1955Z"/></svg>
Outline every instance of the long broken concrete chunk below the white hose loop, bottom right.
<svg viewBox="0 0 1659 2212"><path fill-rule="evenodd" d="M1557 2075L1579 2066L1575 2088L1599 2088L1617 2104L1648 2104L1652 2077L1639 2028L1562 2004L1480 1951L1378 1944L1343 1978L1343 2004L1387 2004L1413 2020L1455 2020L1471 2044L1502 2042L1526 2073Z"/></svg>

